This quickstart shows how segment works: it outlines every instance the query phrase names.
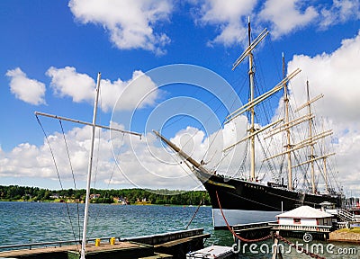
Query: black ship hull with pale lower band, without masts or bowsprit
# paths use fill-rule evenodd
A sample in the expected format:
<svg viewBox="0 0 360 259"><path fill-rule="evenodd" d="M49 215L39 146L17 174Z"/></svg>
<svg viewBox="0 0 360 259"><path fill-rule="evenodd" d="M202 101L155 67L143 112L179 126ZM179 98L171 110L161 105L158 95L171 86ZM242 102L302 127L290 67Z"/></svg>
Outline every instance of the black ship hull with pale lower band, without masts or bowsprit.
<svg viewBox="0 0 360 259"><path fill-rule="evenodd" d="M214 228L227 227L222 214L229 225L233 226L257 221L275 221L275 215L282 211L293 210L302 205L320 208L320 203L324 201L341 207L340 196L294 192L284 186L247 182L207 174L201 170L194 170L193 173L209 192Z"/></svg>

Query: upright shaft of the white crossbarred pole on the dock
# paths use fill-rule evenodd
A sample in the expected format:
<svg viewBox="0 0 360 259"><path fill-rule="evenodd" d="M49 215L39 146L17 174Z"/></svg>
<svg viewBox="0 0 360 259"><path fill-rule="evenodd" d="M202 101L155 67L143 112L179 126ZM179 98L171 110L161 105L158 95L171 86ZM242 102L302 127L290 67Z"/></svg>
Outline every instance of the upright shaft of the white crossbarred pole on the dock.
<svg viewBox="0 0 360 259"><path fill-rule="evenodd" d="M85 259L85 246L86 246L86 231L87 231L87 220L89 218L89 200L90 200L90 183L91 183L91 173L93 165L93 155L94 155L94 137L96 129L96 114L97 114L97 103L99 100L99 90L100 90L100 79L101 73L97 74L97 84L96 84L96 97L94 101L94 113L93 113L93 132L91 137L91 147L90 147L90 156L89 156L89 165L87 171L87 185L86 185L86 197L85 197L85 214L84 214L84 228L83 228L83 240L81 242L81 259Z"/></svg>

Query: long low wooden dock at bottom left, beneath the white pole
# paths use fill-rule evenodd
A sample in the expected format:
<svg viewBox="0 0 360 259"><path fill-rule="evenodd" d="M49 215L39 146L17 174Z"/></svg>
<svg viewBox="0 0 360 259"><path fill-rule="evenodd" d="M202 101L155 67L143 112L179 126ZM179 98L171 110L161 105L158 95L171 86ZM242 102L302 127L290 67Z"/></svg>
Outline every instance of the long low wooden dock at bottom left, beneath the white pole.
<svg viewBox="0 0 360 259"><path fill-rule="evenodd" d="M202 241L208 237L210 234L203 234L203 228L146 237L117 237L114 245L105 241L109 239L105 237L100 246L95 246L94 243L86 245L86 259L185 258L189 251L203 248ZM0 252L0 258L78 259L79 246L48 246L10 250Z"/></svg>

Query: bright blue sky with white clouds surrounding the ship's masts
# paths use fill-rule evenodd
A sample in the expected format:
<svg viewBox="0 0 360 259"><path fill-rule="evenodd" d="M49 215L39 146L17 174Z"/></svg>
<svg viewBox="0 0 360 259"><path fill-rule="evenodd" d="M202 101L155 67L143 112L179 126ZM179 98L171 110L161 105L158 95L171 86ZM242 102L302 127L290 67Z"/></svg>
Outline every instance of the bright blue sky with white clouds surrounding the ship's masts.
<svg viewBox="0 0 360 259"><path fill-rule="evenodd" d="M131 129L144 134L145 138L141 141L147 143L149 150L153 148L154 154L161 154L157 149L159 143L151 137L153 135L148 134L148 128L144 125L148 118L154 118L150 115L156 111L155 108L165 107L166 100L185 96L193 98L190 103L194 106L189 106L188 110L182 111L184 99L172 107L170 105L179 114L197 110L197 102L206 103L208 110L221 122L221 117L227 112L224 108L226 105L221 106L221 103L227 97L222 96L222 99L216 101L213 94L199 92L191 85L160 87L157 80L161 76L156 78L156 73L147 72L173 64L203 67L223 77L239 93L240 101L246 102L247 96L240 89L246 79L247 65L242 65L235 72L231 71L231 66L247 44L247 17L250 16L253 37L264 28L271 32L270 37L266 37L265 42L257 48L258 57L263 58L261 69L257 72L266 78L265 87L270 88L280 81L281 53L284 52L289 70L302 68L301 76L293 83L294 93L303 92L302 86L295 86L303 85L310 79L311 84L319 85L314 89L315 94L321 91L329 96L331 103L321 104L320 111L326 113L338 138L336 149L340 153L337 158L340 178L348 190L357 193L360 170L355 155L360 147L360 125L357 122L360 121L357 101L360 97L359 6L357 0L1 1L0 184L59 188L47 144L44 143L43 133L33 112L49 112L91 121L94 83L98 72L102 72L103 79L103 108L98 122L108 125L114 116L120 127L129 129L125 121L133 120L130 122ZM164 73L161 69L160 72ZM133 84L135 86L132 90L126 88L131 79L141 75L145 75L142 76L144 81ZM210 81L205 80L202 84L210 84ZM117 90L113 90L115 88ZM300 88L302 90L295 90ZM129 95L126 95L128 90ZM152 95L146 95L152 90ZM144 94L147 97L139 104ZM138 96L138 99L131 99L134 96ZM119 98L124 104L117 104L118 109L113 114L112 107ZM273 103L275 106L272 112L276 110L276 103ZM178 108L176 105L179 105ZM163 109L166 112L170 110ZM134 111L136 116L132 118ZM193 140L194 147L202 148L206 138L219 123L210 127L209 121L212 119L199 122L200 113L193 114L192 120L180 119L177 124L166 126L166 137L176 141L177 133L193 130L187 126L199 128L199 125L204 124L209 127L209 131L202 126L197 133L203 133L202 130L206 132L197 134L199 136L195 140L199 142ZM182 115L177 116L182 118ZM124 118L123 121L121 118ZM56 156L61 161L58 162L59 167L64 168L68 162L61 158L65 149L59 147L63 143L60 142L62 135L59 134L61 129L58 121L46 118L40 120L47 134L53 137L54 147L62 150ZM161 128L164 123L153 120L148 125ZM75 164L76 175L79 175L76 180L79 186L84 186L86 136L90 137L87 134L89 131L71 123L64 123L64 128L70 146L74 147L72 163ZM109 132L102 130L100 134L100 144L96 146L101 151L97 159L100 169L96 174L96 186L155 189L192 189L198 186L199 183L193 180L190 180L193 183L189 183L186 177L191 176L184 173L184 168L175 169L176 165L169 165L168 169L168 165L147 160L147 154L140 152L145 147L138 142L131 148L130 142L126 145L118 143L121 150L116 152L122 155L115 160L121 161L117 161L121 167L120 173L118 169L113 169L112 148L109 148L113 143L106 140ZM130 157L131 151L138 154L137 159ZM202 149L197 151L202 154L205 152ZM106 176L109 171L113 172L111 179ZM139 175L133 173L135 171ZM164 171L166 173L163 175L161 172ZM170 171L180 176L174 178L173 174L169 174ZM60 174L65 186L72 187L69 170L64 169ZM170 180L162 182L158 178Z"/></svg>

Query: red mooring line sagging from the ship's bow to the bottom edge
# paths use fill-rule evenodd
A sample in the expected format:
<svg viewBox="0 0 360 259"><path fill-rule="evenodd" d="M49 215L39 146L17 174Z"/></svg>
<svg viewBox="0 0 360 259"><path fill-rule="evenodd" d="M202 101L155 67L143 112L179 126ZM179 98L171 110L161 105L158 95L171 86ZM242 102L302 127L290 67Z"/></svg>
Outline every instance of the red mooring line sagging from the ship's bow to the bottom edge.
<svg viewBox="0 0 360 259"><path fill-rule="evenodd" d="M261 242L261 241L265 241L266 239L269 239L269 238L272 237L271 234L270 234L270 235L267 235L266 237L260 237L260 238L256 238L256 239L247 239L247 238L238 236L238 234L234 231L234 229L229 226L229 222L228 222L228 220L225 218L224 212L222 211L222 208L221 208L218 191L215 191L215 193L216 193L216 198L217 198L218 203L219 203L219 208L220 208L220 212L221 212L222 219L224 219L226 226L229 228L229 231L231 232L231 234L232 234L234 237L237 237L238 240L240 240L240 241L242 241L242 242L246 242L246 243ZM302 248L302 246L299 246L298 244L294 244L293 242L287 240L286 238L284 238L284 237L282 237L282 236L280 236L280 235L278 235L278 234L276 234L276 233L274 233L274 236L275 236L275 238L280 239L281 241L283 241L284 243L286 243L287 245L292 246L292 247L295 248L296 251L298 251L298 252L301 252L301 253L303 253L303 254L305 254L305 255L309 255L309 256L311 256L312 258L326 259L325 257L321 257L320 255L316 255L316 254L314 254L314 253L309 252L307 249Z"/></svg>

